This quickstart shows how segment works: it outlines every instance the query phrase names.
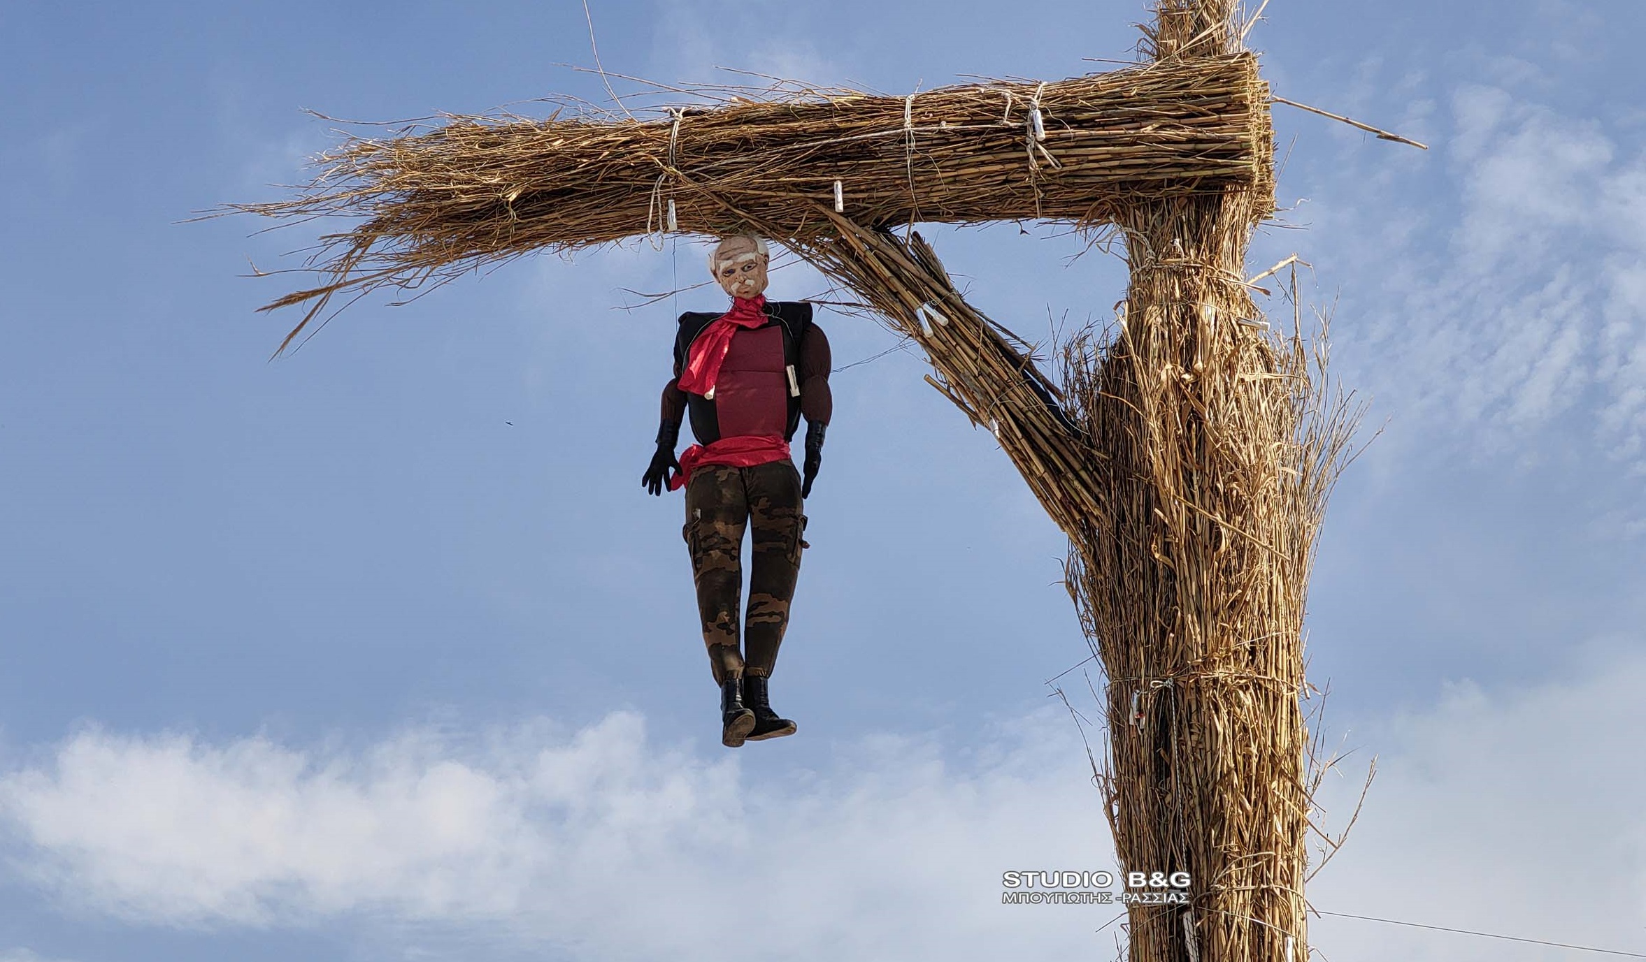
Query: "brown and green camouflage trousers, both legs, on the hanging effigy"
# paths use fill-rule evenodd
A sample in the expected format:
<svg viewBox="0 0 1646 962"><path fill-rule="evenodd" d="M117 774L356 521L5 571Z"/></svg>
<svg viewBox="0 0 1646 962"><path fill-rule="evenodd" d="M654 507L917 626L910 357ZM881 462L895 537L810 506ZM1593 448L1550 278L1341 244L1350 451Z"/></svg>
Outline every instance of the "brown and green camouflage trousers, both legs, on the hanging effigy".
<svg viewBox="0 0 1646 962"><path fill-rule="evenodd" d="M704 465L686 483L691 577L698 585L703 643L714 684L742 674L770 678L788 627L788 602L800 576L800 472L792 460L756 467ZM737 650L742 594L742 531L751 528L749 613Z"/></svg>

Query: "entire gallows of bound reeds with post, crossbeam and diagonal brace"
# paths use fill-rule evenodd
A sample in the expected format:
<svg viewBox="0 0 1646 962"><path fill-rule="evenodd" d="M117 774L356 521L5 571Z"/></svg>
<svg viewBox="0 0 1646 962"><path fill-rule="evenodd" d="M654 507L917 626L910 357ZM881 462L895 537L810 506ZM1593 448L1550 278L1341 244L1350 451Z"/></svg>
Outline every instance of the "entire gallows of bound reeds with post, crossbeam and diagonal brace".
<svg viewBox="0 0 1646 962"><path fill-rule="evenodd" d="M323 238L324 283L270 304L309 308L281 349L341 291L665 229L756 230L810 260L927 352L927 380L1070 538L1067 585L1108 674L1098 775L1119 867L1193 880L1188 906L1131 906L1131 959L1304 962L1304 597L1353 416L1320 386L1323 352L1251 298L1272 130L1234 2L1155 7L1136 69L726 95L653 120L451 117L349 140L296 197L234 209L359 219ZM1065 342L1055 380L918 234L889 230L1022 219L1126 242L1118 332Z"/></svg>

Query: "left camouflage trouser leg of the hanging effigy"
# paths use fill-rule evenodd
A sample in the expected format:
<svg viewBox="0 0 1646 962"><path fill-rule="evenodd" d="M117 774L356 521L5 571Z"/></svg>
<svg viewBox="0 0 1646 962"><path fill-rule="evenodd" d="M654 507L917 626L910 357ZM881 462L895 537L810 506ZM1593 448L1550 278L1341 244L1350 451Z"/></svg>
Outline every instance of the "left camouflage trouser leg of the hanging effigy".
<svg viewBox="0 0 1646 962"><path fill-rule="evenodd" d="M742 676L737 651L737 602L742 595L742 531L749 498L736 467L704 465L686 483L686 526L681 534L691 554L691 579L698 587L703 643L709 651L714 684Z"/></svg>

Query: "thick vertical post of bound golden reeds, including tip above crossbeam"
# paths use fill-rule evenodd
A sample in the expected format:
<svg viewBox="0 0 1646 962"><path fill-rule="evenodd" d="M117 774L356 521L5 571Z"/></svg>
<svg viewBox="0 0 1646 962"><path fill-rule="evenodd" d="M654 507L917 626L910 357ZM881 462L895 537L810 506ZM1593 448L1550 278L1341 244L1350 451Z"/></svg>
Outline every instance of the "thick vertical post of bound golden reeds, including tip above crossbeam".
<svg viewBox="0 0 1646 962"><path fill-rule="evenodd" d="M1234 0L1157 0L1146 28L1157 62L1241 48ZM1267 174L1119 212L1126 314L1083 391L1109 518L1072 592L1108 673L1119 867L1192 876L1187 906L1129 908L1132 962L1309 955L1302 613L1332 465L1300 431L1300 342L1244 284Z"/></svg>

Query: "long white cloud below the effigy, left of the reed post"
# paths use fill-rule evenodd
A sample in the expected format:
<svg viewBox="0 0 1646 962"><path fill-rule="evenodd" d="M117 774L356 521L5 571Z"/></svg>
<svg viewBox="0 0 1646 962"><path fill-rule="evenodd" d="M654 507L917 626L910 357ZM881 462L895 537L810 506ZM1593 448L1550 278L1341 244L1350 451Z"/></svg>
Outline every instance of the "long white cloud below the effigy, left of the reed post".
<svg viewBox="0 0 1646 962"><path fill-rule="evenodd" d="M752 954L983 959L1090 949L1113 914L999 904L1007 868L1111 865L1083 761L1055 712L965 765L884 737L780 781L634 714L352 755L86 730L0 779L0 822L36 883L135 923L370 914L696 959L739 919Z"/></svg>

